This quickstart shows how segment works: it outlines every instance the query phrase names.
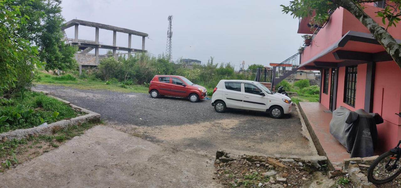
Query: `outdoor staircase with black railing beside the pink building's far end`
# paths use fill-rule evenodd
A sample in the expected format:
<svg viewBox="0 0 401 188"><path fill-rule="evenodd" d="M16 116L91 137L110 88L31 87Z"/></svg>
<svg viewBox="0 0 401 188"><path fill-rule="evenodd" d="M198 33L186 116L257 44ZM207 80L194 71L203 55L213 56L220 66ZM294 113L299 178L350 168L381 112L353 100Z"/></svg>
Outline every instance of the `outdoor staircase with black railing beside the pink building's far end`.
<svg viewBox="0 0 401 188"><path fill-rule="evenodd" d="M296 53L290 58L284 60L282 63L279 63L273 66L272 77L271 77L271 89L275 87L279 82L286 79L292 73L298 70L298 66L301 61L301 53Z"/></svg>

